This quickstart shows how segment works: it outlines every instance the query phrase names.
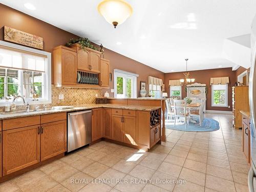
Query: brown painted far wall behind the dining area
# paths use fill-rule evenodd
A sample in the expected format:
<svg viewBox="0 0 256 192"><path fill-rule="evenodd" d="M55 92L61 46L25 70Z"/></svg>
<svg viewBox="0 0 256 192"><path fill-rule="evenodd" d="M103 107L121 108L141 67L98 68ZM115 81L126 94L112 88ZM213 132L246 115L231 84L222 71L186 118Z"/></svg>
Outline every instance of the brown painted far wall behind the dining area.
<svg viewBox="0 0 256 192"><path fill-rule="evenodd" d="M177 73L166 73L165 74L165 90L169 96L169 80L184 79L184 72ZM222 69L210 69L210 70L198 70L198 71L189 71L190 78L195 78L198 83L205 83L208 87L208 93L206 95L206 109L207 110L219 110L219 111L232 111L232 86L236 82L236 72L232 71L232 68L222 68ZM211 86L210 78L211 77L229 77L230 84L228 85L228 105L230 108L221 108L216 106L211 106ZM186 92L184 87L182 88L182 97L186 97Z"/></svg>

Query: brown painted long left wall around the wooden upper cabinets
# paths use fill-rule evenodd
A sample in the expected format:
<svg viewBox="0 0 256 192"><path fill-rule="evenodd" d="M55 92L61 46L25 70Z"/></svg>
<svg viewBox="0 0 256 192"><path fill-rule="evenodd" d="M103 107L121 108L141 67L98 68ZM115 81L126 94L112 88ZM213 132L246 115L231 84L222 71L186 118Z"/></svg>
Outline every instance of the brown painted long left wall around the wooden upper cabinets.
<svg viewBox="0 0 256 192"><path fill-rule="evenodd" d="M14 29L25 31L27 33L35 34L44 38L44 51L52 52L52 49L59 45L65 45L71 38L77 37L76 35L67 31L61 30L53 25L42 22L30 15L19 12L15 9L0 4L0 28L9 26ZM3 29L0 30L0 40L3 40ZM137 78L137 91L139 96L140 81L148 82L148 76L161 78L164 81L164 73L156 69L143 65L133 59L120 55L108 49L104 49L105 58L110 60L111 67L110 73L114 69L129 71L139 74ZM114 76L113 76L114 77ZM147 84L148 85L148 84ZM110 82L110 88L113 89L114 81ZM110 90L103 90L103 93ZM110 93L113 97L114 94Z"/></svg>

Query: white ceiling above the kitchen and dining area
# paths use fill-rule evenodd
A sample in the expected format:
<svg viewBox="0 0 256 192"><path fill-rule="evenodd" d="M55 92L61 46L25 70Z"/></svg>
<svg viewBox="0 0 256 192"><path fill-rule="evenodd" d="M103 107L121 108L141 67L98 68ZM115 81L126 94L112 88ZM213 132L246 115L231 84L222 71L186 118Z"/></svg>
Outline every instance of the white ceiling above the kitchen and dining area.
<svg viewBox="0 0 256 192"><path fill-rule="evenodd" d="M127 0L133 15L114 29L98 13L100 1L0 0L163 72L184 71L185 58L189 71L236 66L222 56L224 40L249 34L256 13L255 0Z"/></svg>

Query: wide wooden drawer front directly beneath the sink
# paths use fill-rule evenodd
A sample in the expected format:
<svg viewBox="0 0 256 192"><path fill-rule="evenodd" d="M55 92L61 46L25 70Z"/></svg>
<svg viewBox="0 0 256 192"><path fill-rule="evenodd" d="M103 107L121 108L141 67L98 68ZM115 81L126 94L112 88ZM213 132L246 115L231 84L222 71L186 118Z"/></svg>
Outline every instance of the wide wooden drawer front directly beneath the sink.
<svg viewBox="0 0 256 192"><path fill-rule="evenodd" d="M3 131L40 124L40 116L20 117L3 120Z"/></svg>

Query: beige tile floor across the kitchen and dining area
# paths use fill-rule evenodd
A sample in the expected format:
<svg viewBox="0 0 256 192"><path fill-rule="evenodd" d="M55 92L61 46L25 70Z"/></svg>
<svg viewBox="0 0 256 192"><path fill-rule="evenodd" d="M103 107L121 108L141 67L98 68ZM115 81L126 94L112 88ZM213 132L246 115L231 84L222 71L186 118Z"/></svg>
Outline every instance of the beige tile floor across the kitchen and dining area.
<svg viewBox="0 0 256 192"><path fill-rule="evenodd" d="M0 191L248 191L242 131L233 130L230 115L207 117L218 120L221 129L207 133L166 130L167 142L147 153L101 141L2 183ZM116 183L122 178L151 182ZM81 182L72 183L75 179ZM115 182L96 184L99 179ZM186 183L164 184L157 179Z"/></svg>

